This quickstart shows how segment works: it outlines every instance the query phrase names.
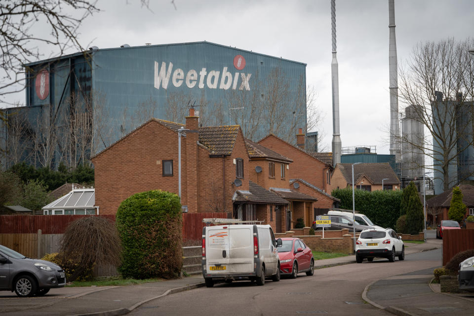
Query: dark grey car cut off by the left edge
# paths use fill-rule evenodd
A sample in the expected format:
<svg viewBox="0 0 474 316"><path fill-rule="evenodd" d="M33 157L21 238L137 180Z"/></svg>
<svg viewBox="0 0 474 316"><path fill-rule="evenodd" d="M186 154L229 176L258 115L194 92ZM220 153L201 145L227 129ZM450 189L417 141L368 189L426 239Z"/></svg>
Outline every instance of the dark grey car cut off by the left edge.
<svg viewBox="0 0 474 316"><path fill-rule="evenodd" d="M50 288L66 285L66 276L58 265L30 259L0 245L0 290L15 291L20 297L46 294Z"/></svg>

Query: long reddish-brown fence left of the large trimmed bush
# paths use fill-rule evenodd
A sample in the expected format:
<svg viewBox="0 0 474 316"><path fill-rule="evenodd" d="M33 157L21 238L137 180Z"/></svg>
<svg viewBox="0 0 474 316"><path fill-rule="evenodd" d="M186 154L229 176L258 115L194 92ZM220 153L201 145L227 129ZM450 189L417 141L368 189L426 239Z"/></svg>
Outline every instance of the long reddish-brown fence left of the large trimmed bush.
<svg viewBox="0 0 474 316"><path fill-rule="evenodd" d="M63 234L68 225L94 215L0 215L0 234ZM115 222L115 215L96 215Z"/></svg>

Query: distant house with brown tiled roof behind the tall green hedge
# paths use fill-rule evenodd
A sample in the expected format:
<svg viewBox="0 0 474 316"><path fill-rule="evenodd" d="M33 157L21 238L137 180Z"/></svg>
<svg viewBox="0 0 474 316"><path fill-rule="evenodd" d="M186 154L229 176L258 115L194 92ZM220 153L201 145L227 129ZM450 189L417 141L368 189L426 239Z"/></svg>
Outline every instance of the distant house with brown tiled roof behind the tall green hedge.
<svg viewBox="0 0 474 316"><path fill-rule="evenodd" d="M354 183L365 191L399 190L400 180L388 162L358 163L354 165ZM331 175L329 190L352 187L352 163L338 163ZM329 191L329 192L330 192Z"/></svg>

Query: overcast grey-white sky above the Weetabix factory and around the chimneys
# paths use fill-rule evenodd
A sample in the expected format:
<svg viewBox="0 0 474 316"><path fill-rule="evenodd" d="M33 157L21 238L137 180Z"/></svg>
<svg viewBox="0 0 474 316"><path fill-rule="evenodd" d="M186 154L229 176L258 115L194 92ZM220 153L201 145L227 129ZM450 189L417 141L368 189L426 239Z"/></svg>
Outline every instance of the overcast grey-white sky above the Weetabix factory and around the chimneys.
<svg viewBox="0 0 474 316"><path fill-rule="evenodd" d="M81 44L99 48L207 40L307 64L331 150L330 0L98 0L84 20ZM474 36L472 0L395 0L398 66L420 41ZM342 146L377 146L389 154L388 0L336 0ZM46 56L47 57L47 56ZM24 93L18 97L24 103Z"/></svg>

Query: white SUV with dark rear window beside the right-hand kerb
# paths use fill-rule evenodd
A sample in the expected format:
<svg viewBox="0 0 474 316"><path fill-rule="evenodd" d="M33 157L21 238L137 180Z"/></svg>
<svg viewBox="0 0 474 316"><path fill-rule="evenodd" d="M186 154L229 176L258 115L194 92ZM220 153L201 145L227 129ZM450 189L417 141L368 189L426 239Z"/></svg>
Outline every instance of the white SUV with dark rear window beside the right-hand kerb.
<svg viewBox="0 0 474 316"><path fill-rule="evenodd" d="M360 233L356 241L356 262L361 263L364 258L373 261L374 258L387 258L390 262L405 260L405 246L391 228L365 230Z"/></svg>

